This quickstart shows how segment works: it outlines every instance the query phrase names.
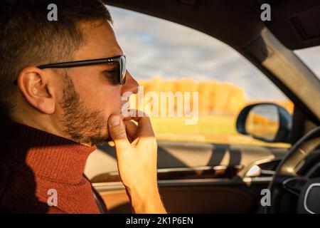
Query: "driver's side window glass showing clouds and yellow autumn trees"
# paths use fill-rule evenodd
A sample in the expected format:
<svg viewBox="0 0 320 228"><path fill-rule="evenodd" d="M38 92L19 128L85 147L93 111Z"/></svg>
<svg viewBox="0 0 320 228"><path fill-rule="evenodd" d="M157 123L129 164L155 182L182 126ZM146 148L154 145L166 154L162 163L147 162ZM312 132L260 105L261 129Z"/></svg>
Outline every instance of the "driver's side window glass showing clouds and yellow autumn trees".
<svg viewBox="0 0 320 228"><path fill-rule="evenodd" d="M152 114L159 140L270 145L237 133L235 121L240 110L251 103L273 102L293 112L292 102L225 43L170 21L109 9L119 45L127 56L127 68L144 88L141 98ZM175 115L161 115L161 110L168 114L172 109L169 102L161 103L161 93L176 95ZM179 99L183 108L190 104L189 110L182 108L183 116L178 115ZM142 102L139 95L132 100ZM195 120L197 102L198 120L190 124ZM148 103L152 105L146 107Z"/></svg>

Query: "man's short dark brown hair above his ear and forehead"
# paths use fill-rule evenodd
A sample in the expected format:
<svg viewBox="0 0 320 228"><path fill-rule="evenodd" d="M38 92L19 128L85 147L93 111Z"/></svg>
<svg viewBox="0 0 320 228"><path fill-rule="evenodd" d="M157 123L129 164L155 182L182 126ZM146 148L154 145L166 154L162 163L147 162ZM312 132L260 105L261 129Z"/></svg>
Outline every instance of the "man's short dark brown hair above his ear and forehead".
<svg viewBox="0 0 320 228"><path fill-rule="evenodd" d="M58 21L48 20L49 4L58 6ZM70 61L85 44L80 23L112 18L100 0L1 0L0 115L14 108L13 81L27 66Z"/></svg>

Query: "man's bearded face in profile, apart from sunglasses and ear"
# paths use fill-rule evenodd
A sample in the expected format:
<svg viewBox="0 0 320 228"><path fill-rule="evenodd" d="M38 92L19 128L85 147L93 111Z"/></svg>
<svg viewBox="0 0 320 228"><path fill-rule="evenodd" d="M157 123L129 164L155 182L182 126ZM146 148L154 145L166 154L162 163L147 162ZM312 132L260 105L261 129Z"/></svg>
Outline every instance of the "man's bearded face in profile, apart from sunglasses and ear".
<svg viewBox="0 0 320 228"><path fill-rule="evenodd" d="M75 53L75 61L122 55L108 23L84 24L85 46ZM107 120L122 110L122 94L137 93L138 83L127 72L124 85L108 77L114 66L107 64L70 68L62 78L57 112L64 133L81 143L100 145L110 138ZM61 85L60 84L60 85Z"/></svg>

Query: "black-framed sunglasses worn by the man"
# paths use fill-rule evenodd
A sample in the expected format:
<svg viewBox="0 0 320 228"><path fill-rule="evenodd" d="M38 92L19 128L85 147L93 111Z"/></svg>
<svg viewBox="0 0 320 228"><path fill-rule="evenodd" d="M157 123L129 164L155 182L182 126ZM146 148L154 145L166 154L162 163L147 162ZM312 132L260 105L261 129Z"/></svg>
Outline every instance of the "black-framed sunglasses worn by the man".
<svg viewBox="0 0 320 228"><path fill-rule="evenodd" d="M90 59L90 60L83 60L83 61L72 61L72 62L65 62L65 63L50 63L46 65L38 66L40 69L46 68L71 68L71 67L78 67L78 66L92 66L92 65L100 65L100 64L117 64L117 75L114 76L118 83L124 85L126 82L126 75L127 75L127 61L126 56L114 56L111 58L97 58L97 59ZM17 84L17 80L14 81L14 84Z"/></svg>

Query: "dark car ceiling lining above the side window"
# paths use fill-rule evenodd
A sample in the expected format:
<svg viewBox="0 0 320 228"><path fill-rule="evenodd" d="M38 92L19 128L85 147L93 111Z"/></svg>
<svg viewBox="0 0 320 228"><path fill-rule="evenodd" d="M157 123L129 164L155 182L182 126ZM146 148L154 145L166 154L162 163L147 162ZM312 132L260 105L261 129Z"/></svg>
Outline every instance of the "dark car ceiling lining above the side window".
<svg viewBox="0 0 320 228"><path fill-rule="evenodd" d="M271 6L271 21L267 23L260 20L262 2ZM195 28L238 51L260 36L265 26L289 49L320 45L320 26L315 22L320 21L320 1L105 0L105 3Z"/></svg>

